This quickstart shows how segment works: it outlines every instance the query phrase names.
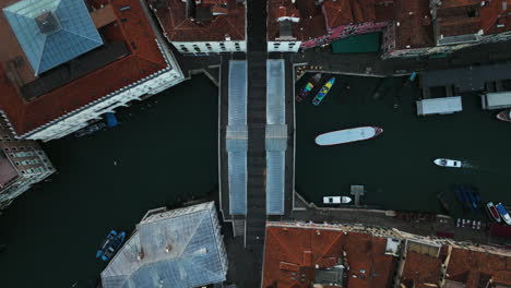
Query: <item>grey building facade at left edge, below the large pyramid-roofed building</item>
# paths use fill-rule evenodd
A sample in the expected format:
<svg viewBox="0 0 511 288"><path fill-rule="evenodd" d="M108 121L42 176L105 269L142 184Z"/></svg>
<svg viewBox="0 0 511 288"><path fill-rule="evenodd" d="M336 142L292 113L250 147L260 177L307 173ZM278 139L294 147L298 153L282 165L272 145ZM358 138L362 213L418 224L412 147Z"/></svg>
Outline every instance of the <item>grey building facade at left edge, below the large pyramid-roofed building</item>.
<svg viewBox="0 0 511 288"><path fill-rule="evenodd" d="M37 142L15 139L0 120L0 211L54 172L54 166Z"/></svg>

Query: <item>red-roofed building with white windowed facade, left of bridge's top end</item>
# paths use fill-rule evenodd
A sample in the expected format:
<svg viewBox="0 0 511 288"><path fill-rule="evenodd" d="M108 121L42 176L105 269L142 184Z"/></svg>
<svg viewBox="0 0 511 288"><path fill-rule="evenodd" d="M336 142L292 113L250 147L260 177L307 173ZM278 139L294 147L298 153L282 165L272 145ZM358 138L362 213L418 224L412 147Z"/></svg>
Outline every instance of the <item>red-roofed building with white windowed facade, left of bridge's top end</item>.
<svg viewBox="0 0 511 288"><path fill-rule="evenodd" d="M245 1L148 0L164 35L183 55L246 52Z"/></svg>

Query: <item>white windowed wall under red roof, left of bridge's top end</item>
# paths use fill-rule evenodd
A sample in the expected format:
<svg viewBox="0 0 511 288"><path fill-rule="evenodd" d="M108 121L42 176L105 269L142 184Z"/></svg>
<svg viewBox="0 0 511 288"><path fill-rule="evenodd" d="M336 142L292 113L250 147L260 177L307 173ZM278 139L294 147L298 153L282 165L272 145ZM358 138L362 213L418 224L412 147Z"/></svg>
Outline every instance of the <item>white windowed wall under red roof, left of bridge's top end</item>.
<svg viewBox="0 0 511 288"><path fill-rule="evenodd" d="M247 52L247 41L173 41L179 52L185 55Z"/></svg>

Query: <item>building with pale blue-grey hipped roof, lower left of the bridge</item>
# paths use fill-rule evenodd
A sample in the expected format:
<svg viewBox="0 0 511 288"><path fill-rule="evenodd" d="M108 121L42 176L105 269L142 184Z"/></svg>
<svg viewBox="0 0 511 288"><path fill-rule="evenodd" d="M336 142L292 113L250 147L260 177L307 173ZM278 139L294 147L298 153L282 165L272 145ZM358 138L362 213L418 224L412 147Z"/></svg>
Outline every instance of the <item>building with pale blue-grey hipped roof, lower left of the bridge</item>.
<svg viewBox="0 0 511 288"><path fill-rule="evenodd" d="M146 216L102 272L104 288L223 283L227 256L214 203Z"/></svg>

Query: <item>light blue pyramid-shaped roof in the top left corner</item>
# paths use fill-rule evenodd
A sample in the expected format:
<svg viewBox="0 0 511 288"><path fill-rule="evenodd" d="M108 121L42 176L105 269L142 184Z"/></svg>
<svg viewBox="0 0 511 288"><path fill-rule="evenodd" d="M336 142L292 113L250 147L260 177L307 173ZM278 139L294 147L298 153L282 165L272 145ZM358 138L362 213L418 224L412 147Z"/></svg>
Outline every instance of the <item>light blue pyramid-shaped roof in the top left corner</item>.
<svg viewBox="0 0 511 288"><path fill-rule="evenodd" d="M3 14L36 75L103 45L83 0L22 0Z"/></svg>

